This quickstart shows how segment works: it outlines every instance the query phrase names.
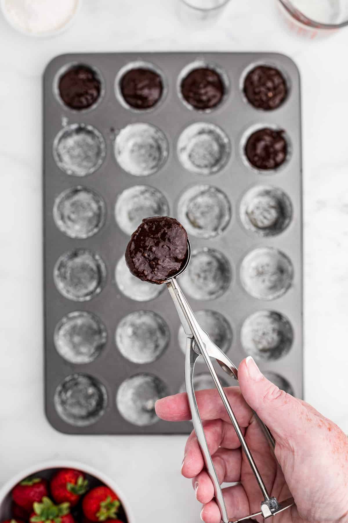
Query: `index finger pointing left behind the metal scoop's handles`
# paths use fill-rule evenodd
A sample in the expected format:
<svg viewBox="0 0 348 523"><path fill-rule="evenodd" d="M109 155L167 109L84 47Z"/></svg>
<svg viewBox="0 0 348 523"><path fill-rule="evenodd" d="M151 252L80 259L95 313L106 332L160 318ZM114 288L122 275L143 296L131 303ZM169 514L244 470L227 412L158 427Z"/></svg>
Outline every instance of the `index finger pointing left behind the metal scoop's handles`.
<svg viewBox="0 0 348 523"><path fill-rule="evenodd" d="M253 411L244 400L241 390L237 386L224 389L232 410L238 419L239 425L247 427ZM230 417L222 403L216 389L195 392L199 414L202 420L218 419L230 422ZM191 411L186 392L163 397L155 404L155 411L159 418L170 422L181 422L191 419Z"/></svg>

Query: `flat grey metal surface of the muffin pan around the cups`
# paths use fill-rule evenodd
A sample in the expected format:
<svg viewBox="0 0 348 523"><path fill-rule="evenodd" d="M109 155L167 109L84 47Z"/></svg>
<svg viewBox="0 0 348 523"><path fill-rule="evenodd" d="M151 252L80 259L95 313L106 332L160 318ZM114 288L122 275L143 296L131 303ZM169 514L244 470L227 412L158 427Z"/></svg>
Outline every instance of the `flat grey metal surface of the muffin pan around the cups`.
<svg viewBox="0 0 348 523"><path fill-rule="evenodd" d="M122 106L115 96L115 78L129 62L145 61L159 67L167 81L167 94L158 107L149 112L134 112ZM209 113L189 110L177 93L177 78L190 63L201 61L218 65L228 76L229 96L221 106ZM105 93L97 107L89 111L71 111L57 101L53 83L57 72L70 63L96 67L103 78ZM244 99L240 82L251 64L271 64L284 72L290 93L284 104L272 111L261 111ZM67 434L186 434L190 422L167 423L159 420L147 426L137 426L125 420L116 406L119 385L138 373L149 373L163 380L170 393L178 392L184 381L184 354L178 347L179 320L164 289L151 300L137 302L126 298L115 282L115 266L124 255L128 237L114 218L117 196L126 188L149 185L158 188L169 202L170 215L177 217L177 203L184 190L195 184L209 184L221 189L229 198L232 219L220 236L210 240L190 235L193 249L210 247L222 252L232 268L229 289L210 301L189 298L194 311L217 311L230 322L233 340L227 353L235 365L246 356L241 346L241 328L248 316L256 311L276 311L289 319L294 333L289 353L278 360L260 362L263 371L280 374L297 397L303 397L303 271L302 271L302 157L301 102L299 73L294 62L278 53L72 53L54 58L43 77L43 236L44 236L44 350L45 350L45 412L51 425ZM131 176L117 164L114 140L118 132L130 123L149 122L159 128L169 144L169 156L158 173L150 176ZM194 122L211 122L225 131L231 142L231 157L217 174L201 176L186 170L179 162L176 144L182 131ZM104 137L106 155L93 174L77 177L65 174L56 165L52 147L59 131L71 123L89 124ZM291 142L289 162L274 174L259 174L248 168L240 154L243 134L257 124L284 129ZM285 191L293 207L293 219L284 232L260 237L246 231L239 218L239 204L251 187L272 185ZM69 238L58 230L53 219L54 202L62 191L85 186L98 192L106 204L106 219L101 230L85 240ZM258 300L249 295L239 278L245 255L257 247L280 249L292 261L294 277L291 288L275 300ZM63 253L75 248L87 248L98 253L106 265L103 290L90 301L66 299L56 289L53 270ZM138 365L124 358L115 343L118 323L135 310L154 311L170 329L170 343L164 354L152 363ZM57 323L73 311L89 311L97 315L106 327L107 343L91 363L74 365L58 355L53 335ZM204 366L198 370L204 372ZM75 426L66 423L56 412L54 394L57 386L70 374L88 374L104 385L107 406L104 414L93 424ZM219 373L221 375L221 372ZM224 376L223 376L224 378ZM230 383L233 385L234 383Z"/></svg>

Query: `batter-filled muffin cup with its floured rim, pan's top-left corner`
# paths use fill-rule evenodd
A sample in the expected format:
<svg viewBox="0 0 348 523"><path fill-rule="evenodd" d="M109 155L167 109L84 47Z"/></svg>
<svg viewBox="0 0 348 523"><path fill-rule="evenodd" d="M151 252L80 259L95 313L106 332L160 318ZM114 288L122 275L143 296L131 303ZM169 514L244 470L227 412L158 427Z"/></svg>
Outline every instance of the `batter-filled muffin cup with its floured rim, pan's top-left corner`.
<svg viewBox="0 0 348 523"><path fill-rule="evenodd" d="M56 74L53 92L65 108L76 112L90 111L102 100L105 85L96 67L70 63Z"/></svg>

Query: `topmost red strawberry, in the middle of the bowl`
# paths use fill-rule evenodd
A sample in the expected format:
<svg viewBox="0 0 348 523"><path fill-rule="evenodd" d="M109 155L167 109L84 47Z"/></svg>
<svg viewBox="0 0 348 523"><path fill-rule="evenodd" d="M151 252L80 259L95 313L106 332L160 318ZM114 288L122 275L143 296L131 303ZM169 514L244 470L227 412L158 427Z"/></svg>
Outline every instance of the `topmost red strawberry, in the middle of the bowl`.
<svg viewBox="0 0 348 523"><path fill-rule="evenodd" d="M77 505L80 496L87 492L88 481L82 472L74 469L61 469L51 480L51 494L56 503L69 502Z"/></svg>

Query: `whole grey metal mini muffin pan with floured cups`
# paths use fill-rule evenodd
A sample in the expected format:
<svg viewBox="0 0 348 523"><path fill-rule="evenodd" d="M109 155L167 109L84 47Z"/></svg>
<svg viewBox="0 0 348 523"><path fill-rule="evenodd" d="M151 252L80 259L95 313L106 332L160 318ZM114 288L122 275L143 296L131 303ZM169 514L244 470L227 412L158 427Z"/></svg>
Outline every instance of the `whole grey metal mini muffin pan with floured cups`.
<svg viewBox="0 0 348 523"><path fill-rule="evenodd" d="M260 65L275 68L286 83L275 109L250 103L251 87L258 104L267 96L267 86L259 93L255 85L257 75L245 95L245 78ZM197 101L195 85L207 69L216 74L211 85L200 85L203 102ZM62 75L74 108L60 97ZM84 75L89 84L81 98L77 84ZM278 73L270 76L278 81ZM251 165L245 147L254 132ZM190 422L164 422L154 412L158 398L184 390L185 335L177 313L165 286L136 279L124 259L130 234L153 215L173 216L187 229L193 252L179 284L213 341L235 365L252 355L269 379L302 397L295 64L273 53L61 55L44 73L43 137L50 423L69 434L191 430ZM271 161L260 162L259 154ZM273 167L255 167L261 164ZM195 388L210 386L198 360Z"/></svg>

